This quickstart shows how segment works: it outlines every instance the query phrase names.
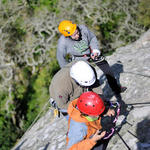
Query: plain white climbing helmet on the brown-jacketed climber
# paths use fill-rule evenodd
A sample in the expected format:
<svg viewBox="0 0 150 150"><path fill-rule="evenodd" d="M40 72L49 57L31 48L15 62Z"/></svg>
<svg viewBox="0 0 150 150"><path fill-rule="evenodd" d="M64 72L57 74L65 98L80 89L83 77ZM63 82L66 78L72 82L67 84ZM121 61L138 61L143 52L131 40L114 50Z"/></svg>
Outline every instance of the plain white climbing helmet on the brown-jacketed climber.
<svg viewBox="0 0 150 150"><path fill-rule="evenodd" d="M93 69L85 61L78 61L70 68L70 76L81 86L91 86L96 81Z"/></svg>

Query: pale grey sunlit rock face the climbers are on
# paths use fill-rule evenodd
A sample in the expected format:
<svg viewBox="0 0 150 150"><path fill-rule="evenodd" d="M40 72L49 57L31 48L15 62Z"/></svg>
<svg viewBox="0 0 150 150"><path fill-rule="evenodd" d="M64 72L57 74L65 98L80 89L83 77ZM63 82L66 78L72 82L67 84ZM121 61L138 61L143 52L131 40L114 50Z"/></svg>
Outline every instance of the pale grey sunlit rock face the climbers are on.
<svg viewBox="0 0 150 150"><path fill-rule="evenodd" d="M118 82L127 86L121 94L123 103L130 104L119 116L121 124L108 144L108 150L150 150L150 30L131 45L121 47L106 58ZM104 95L115 97L103 73L97 69ZM130 106L130 107L129 107ZM132 109L131 106L133 106ZM50 109L28 130L12 150L65 150L67 121L53 117Z"/></svg>

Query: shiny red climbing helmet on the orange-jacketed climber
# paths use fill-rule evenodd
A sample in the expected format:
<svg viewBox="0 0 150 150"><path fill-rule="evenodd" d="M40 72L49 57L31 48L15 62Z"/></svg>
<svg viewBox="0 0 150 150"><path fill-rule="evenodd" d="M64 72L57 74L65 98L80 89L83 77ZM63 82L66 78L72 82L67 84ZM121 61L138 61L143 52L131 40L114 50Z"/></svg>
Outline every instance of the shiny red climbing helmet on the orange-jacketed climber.
<svg viewBox="0 0 150 150"><path fill-rule="evenodd" d="M77 101L77 107L82 113L89 116L98 116L105 110L103 100L94 92L81 94Z"/></svg>

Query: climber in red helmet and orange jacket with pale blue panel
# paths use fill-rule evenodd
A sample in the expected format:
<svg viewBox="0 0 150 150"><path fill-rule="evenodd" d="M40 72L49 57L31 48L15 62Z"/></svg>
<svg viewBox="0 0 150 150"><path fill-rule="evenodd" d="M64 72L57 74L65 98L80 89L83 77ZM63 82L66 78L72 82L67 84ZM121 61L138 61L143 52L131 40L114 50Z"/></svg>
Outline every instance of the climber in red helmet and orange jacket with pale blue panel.
<svg viewBox="0 0 150 150"><path fill-rule="evenodd" d="M108 144L102 131L102 117L115 116L114 109L105 111L101 97L94 92L85 92L68 106L67 149L102 150ZM108 135L107 135L108 136Z"/></svg>

